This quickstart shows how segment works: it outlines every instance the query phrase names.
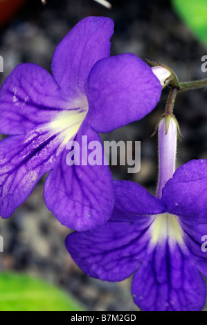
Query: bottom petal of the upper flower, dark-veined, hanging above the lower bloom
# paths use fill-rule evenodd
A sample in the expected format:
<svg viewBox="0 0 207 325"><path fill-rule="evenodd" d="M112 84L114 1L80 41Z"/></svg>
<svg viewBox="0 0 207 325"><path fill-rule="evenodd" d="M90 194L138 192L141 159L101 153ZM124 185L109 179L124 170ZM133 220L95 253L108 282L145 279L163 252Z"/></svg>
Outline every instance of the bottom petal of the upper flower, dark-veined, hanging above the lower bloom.
<svg viewBox="0 0 207 325"><path fill-rule="evenodd" d="M100 143L98 133L85 129L84 123L75 138L82 149L82 135L87 143L92 140ZM89 151L90 152L90 151ZM46 178L44 198L48 210L66 227L82 231L105 223L114 206L114 188L111 172L106 165L66 164L69 151L64 150L58 164ZM80 163L82 156L80 153Z"/></svg>

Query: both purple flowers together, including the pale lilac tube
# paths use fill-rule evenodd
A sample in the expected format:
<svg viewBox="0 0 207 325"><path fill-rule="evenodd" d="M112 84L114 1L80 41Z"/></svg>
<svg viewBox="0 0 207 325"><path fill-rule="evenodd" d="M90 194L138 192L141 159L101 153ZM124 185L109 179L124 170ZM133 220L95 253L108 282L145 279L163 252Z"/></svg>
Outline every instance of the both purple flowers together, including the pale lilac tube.
<svg viewBox="0 0 207 325"><path fill-rule="evenodd" d="M87 275L122 281L134 274L132 295L143 310L201 310L207 160L174 172L176 123L170 120L168 134L160 124L157 197L136 183L113 181L104 163L66 164L69 141L81 147L87 136L101 143L98 132L143 118L159 101L161 83L145 62L132 53L110 57L113 30L111 19L87 17L55 49L53 75L21 64L4 82L0 214L8 218L48 172L46 206L78 231L66 248Z"/></svg>

